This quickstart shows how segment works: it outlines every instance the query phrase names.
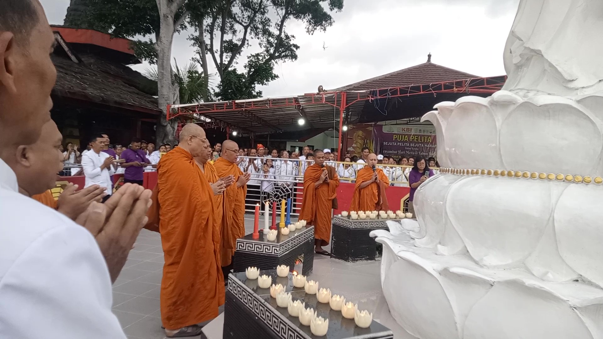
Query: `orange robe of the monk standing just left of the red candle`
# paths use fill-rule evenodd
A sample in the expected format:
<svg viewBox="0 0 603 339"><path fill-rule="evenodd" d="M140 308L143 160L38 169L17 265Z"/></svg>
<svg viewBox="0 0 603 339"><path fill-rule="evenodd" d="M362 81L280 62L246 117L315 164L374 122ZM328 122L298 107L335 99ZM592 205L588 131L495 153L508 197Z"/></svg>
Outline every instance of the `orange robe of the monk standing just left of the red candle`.
<svg viewBox="0 0 603 339"><path fill-rule="evenodd" d="M236 180L243 173L235 163L219 157L213 163L218 177L235 176L235 182L224 190L224 215L222 217L221 255L222 266L226 267L232 262L235 254L236 239L245 236L245 196L247 185L237 188Z"/></svg>

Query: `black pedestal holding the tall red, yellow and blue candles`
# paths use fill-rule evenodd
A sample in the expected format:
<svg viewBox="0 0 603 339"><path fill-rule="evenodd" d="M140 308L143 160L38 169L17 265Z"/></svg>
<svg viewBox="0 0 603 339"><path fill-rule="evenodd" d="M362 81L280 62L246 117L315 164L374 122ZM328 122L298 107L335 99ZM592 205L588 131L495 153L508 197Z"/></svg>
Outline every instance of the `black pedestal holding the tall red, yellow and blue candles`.
<svg viewBox="0 0 603 339"><path fill-rule="evenodd" d="M260 233L259 239L246 235L236 240L233 271L244 272L247 267L260 270L276 270L278 265L294 268L295 261L303 255L301 274L308 276L314 265L314 226L301 227L289 235L276 236L276 241L268 241Z"/></svg>

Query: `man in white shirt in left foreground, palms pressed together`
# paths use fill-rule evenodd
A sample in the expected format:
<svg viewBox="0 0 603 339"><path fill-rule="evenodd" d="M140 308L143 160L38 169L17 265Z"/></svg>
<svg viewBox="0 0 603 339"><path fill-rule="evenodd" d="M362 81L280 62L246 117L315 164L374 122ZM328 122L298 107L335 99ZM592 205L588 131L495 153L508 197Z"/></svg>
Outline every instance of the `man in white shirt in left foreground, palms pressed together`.
<svg viewBox="0 0 603 339"><path fill-rule="evenodd" d="M90 204L80 226L20 194L10 168L24 160L19 146L34 144L50 119L53 48L37 0L2 1L0 338L125 339L111 312L111 282L143 226L151 192L124 186L107 204Z"/></svg>

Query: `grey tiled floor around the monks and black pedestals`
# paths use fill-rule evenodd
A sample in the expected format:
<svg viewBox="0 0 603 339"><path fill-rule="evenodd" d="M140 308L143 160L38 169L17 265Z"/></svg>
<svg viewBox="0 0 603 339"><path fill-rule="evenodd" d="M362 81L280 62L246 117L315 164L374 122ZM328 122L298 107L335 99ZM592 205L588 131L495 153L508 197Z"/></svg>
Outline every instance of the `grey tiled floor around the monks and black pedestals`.
<svg viewBox="0 0 603 339"><path fill-rule="evenodd" d="M251 233L253 219L251 215L246 218L245 228L247 233ZM113 312L130 339L165 338L165 332L160 327L159 311L162 267L163 250L159 233L142 230L124 270L113 285ZM314 257L311 277L318 280L321 287L329 287L333 293L343 294L347 300L357 302L360 309L373 312L374 320L392 329L395 339L414 338L400 328L390 315L382 296L379 262L349 264L317 255ZM222 338L222 322L223 319L218 317L206 326L207 338Z"/></svg>

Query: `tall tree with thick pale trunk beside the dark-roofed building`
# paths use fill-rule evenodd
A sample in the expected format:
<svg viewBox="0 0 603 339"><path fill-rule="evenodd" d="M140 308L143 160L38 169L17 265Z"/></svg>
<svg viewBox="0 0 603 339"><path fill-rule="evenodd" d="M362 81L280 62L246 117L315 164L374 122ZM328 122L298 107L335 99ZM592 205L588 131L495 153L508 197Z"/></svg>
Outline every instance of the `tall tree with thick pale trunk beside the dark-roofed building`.
<svg viewBox="0 0 603 339"><path fill-rule="evenodd" d="M86 11L75 10L83 0L72 0L65 24L93 28L113 36L133 39L136 36L153 36L147 42L137 40L137 56L157 63L157 90L159 110L157 142L173 144L176 122L167 121L166 109L178 98L172 83L171 60L174 33L185 27L189 12L183 9L187 0L84 0ZM201 0L200 0L201 1Z"/></svg>

